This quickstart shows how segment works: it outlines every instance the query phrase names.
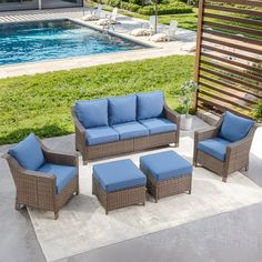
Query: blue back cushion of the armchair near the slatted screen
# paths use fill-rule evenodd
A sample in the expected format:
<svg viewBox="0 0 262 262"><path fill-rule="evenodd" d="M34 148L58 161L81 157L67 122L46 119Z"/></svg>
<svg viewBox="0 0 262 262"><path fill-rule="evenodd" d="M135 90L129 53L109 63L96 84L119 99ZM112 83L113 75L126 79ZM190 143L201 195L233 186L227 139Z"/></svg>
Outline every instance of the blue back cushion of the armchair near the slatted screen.
<svg viewBox="0 0 262 262"><path fill-rule="evenodd" d="M254 121L225 112L219 137L231 142L243 139L254 125Z"/></svg>

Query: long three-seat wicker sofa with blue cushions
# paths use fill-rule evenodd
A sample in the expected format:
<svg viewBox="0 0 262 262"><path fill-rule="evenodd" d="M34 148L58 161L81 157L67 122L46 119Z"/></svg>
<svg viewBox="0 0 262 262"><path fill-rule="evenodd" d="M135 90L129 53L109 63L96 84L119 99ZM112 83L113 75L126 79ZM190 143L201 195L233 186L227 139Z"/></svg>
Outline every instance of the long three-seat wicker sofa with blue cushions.
<svg viewBox="0 0 262 262"><path fill-rule="evenodd" d="M161 91L78 101L71 112L75 149L83 164L171 143L179 145L180 115L165 104Z"/></svg>

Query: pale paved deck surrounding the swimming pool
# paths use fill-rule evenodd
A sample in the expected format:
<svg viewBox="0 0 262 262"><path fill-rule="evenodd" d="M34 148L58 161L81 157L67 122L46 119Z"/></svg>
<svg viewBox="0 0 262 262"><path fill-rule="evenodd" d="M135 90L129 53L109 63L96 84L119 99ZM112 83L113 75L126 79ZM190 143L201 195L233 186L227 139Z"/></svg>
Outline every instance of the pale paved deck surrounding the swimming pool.
<svg viewBox="0 0 262 262"><path fill-rule="evenodd" d="M87 13L87 10L85 10ZM104 12L103 14L105 16ZM19 12L1 12L0 24L7 22L24 22L24 21L39 21L52 19L70 19L82 24L87 24L98 30L102 30L101 26L95 22L84 22L81 20L83 10L80 8L73 9L58 9L58 10L33 10L33 11L19 11ZM195 32L178 29L175 41L170 42L152 42L149 37L132 37L130 31L134 28L140 28L142 23L147 22L142 19L134 19L127 16L118 16L119 24L114 26L114 31L110 29L110 33L140 42L152 48L131 50L124 52L93 54L88 57L75 57L68 59L57 59L40 62L9 64L0 67L0 79L9 77L18 77L24 74L44 73L50 71L70 70L77 68L87 68L99 64L108 64L115 62L135 61L150 58L168 57L173 54L188 54L192 47L195 46ZM163 32L168 26L159 24L158 31Z"/></svg>

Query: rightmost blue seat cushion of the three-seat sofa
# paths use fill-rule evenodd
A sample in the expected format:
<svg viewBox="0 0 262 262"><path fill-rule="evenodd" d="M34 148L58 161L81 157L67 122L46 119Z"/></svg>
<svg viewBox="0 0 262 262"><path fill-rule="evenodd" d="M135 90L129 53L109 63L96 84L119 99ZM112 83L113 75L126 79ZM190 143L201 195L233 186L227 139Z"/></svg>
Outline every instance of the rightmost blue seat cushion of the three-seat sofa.
<svg viewBox="0 0 262 262"><path fill-rule="evenodd" d="M149 129L150 134L173 132L177 130L177 124L164 118L144 119L139 122Z"/></svg>

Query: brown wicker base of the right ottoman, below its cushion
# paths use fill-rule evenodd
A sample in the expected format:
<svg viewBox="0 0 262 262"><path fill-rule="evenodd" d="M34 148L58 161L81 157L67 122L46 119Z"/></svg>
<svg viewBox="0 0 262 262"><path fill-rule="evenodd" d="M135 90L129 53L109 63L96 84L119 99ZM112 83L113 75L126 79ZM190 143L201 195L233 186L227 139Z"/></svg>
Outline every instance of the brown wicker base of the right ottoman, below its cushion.
<svg viewBox="0 0 262 262"><path fill-rule="evenodd" d="M184 174L181 178L174 178L158 182L151 175L147 175L148 192L155 199L155 203L161 198L180 194L189 191L191 194L192 174Z"/></svg>

